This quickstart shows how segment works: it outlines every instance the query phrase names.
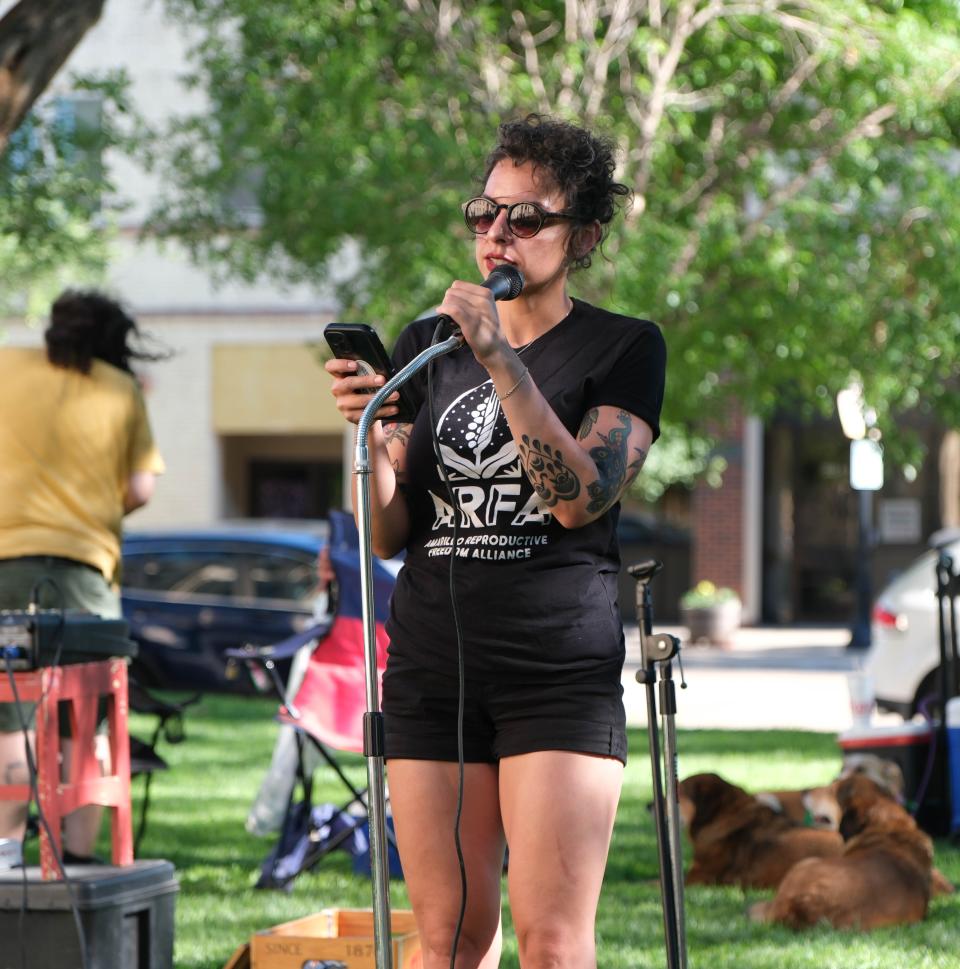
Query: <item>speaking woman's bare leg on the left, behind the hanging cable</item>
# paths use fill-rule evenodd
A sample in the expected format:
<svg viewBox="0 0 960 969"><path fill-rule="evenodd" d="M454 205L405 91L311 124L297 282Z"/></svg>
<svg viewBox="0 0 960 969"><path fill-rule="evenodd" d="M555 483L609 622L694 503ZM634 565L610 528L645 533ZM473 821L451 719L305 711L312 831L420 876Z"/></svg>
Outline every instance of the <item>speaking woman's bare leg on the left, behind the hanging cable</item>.
<svg viewBox="0 0 960 969"><path fill-rule="evenodd" d="M391 760L390 804L424 969L448 969L460 911L460 869L453 840L457 765ZM494 764L467 764L460 841L467 870L467 911L457 969L496 969L500 961L503 828Z"/></svg>

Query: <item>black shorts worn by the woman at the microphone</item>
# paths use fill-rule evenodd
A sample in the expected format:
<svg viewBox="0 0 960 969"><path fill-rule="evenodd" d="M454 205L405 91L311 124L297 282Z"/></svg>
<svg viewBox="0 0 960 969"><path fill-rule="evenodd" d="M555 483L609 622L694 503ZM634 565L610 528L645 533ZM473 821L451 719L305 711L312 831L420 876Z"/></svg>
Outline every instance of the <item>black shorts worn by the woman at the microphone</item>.
<svg viewBox="0 0 960 969"><path fill-rule="evenodd" d="M390 657L383 677L386 757L457 760L458 680ZM539 750L570 750L627 762L619 675L517 682L466 680L464 760L495 763Z"/></svg>

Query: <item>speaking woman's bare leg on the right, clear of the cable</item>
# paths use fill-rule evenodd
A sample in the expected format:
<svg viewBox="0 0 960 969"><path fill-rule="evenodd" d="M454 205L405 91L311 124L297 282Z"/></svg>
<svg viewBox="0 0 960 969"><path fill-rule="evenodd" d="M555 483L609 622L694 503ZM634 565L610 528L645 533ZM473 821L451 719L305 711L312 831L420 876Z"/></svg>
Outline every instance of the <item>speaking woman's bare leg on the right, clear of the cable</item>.
<svg viewBox="0 0 960 969"><path fill-rule="evenodd" d="M596 969L594 922L623 764L546 750L500 762L523 969Z"/></svg>

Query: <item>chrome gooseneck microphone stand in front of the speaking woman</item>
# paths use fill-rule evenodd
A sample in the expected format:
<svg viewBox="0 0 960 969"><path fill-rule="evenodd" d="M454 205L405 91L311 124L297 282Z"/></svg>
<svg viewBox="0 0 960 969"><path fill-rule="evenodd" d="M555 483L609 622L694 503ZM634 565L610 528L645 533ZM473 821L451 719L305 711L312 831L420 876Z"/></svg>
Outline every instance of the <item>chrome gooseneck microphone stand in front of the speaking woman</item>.
<svg viewBox="0 0 960 969"><path fill-rule="evenodd" d="M363 755L367 760L370 826L370 875L373 885L373 936L376 969L393 969L390 936L390 868L387 858L387 811L384 793L384 730L377 677L377 632L373 606L373 553L370 548L370 455L367 434L383 402L436 357L458 349L457 334L427 347L370 399L357 422L353 473L357 476L357 531L360 536L360 595L363 613L363 658L367 711L363 715Z"/></svg>

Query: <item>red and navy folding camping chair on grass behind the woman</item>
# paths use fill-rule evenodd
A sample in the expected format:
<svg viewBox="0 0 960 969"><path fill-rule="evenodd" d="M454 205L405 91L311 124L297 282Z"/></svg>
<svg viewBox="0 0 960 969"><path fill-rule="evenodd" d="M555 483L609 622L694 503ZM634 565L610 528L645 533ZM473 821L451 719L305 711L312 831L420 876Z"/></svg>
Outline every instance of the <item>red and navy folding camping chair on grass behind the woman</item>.
<svg viewBox="0 0 960 969"><path fill-rule="evenodd" d="M362 850L365 841L361 829L367 822L366 790L352 783L333 753L363 752L366 711L359 536L353 518L344 512L330 513L329 554L336 581L336 604L330 621L273 646L229 651L233 657L266 669L281 699L277 719L296 730L297 776L280 839L264 862L258 888L287 888L297 874L311 868L334 848L348 845ZM377 668L381 676L387 654L383 622L395 576L395 563L374 562ZM293 700L284 702L286 691L276 672L276 661L294 656L313 640L316 645L303 679ZM320 756L349 792L349 800L339 810L313 806L313 777L306 766L308 749ZM299 802L298 782L303 792Z"/></svg>

